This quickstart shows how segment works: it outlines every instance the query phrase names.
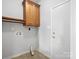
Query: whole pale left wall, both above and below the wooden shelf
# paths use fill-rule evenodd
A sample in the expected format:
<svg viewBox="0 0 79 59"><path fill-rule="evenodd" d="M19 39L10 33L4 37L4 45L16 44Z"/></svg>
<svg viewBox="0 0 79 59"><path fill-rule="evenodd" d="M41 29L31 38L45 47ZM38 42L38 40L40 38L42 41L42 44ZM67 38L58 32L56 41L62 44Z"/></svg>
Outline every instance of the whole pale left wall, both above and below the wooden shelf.
<svg viewBox="0 0 79 59"><path fill-rule="evenodd" d="M22 0L3 0L2 15L23 18ZM30 45L34 49L38 49L38 28L23 26L16 23L2 23L2 45L3 59L8 59L11 56L27 52ZM21 32L21 35L16 35Z"/></svg>

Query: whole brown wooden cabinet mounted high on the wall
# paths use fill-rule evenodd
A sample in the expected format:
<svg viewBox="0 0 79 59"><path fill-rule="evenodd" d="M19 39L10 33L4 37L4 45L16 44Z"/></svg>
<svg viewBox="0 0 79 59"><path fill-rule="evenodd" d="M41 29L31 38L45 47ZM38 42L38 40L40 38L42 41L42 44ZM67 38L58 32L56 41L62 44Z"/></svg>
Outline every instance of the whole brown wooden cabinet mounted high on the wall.
<svg viewBox="0 0 79 59"><path fill-rule="evenodd" d="M40 5L26 0L23 2L23 19L24 25L27 26L40 26Z"/></svg>

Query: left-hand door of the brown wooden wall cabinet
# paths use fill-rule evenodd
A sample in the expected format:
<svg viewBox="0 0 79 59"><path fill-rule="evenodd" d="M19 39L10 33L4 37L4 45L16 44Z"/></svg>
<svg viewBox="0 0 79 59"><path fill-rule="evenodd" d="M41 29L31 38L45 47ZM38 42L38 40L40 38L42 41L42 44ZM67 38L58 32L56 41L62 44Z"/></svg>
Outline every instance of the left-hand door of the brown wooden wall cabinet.
<svg viewBox="0 0 79 59"><path fill-rule="evenodd" d="M33 26L33 5L31 3L26 3L26 25Z"/></svg>

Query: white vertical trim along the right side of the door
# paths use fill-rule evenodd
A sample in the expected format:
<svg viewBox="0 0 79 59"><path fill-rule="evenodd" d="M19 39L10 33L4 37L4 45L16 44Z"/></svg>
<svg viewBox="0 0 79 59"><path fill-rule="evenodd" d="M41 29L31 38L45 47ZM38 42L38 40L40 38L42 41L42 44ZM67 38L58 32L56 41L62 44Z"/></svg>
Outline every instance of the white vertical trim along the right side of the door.
<svg viewBox="0 0 79 59"><path fill-rule="evenodd" d="M76 0L71 0L70 22L71 22L70 59L76 59Z"/></svg>

